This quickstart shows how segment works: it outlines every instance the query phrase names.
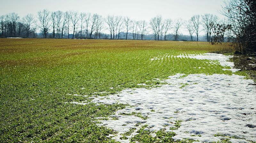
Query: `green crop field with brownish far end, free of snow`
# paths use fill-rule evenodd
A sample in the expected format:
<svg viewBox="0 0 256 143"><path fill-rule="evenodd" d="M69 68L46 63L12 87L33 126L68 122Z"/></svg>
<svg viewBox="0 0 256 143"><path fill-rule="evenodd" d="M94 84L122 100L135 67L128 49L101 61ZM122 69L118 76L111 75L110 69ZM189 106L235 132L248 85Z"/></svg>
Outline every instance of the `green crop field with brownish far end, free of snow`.
<svg viewBox="0 0 256 143"><path fill-rule="evenodd" d="M231 75L209 60L165 56L230 50L228 43L1 38L0 142L115 142L107 137L115 131L92 120L128 105L96 106L91 96L143 87L137 84L176 73ZM165 57L151 60L159 56ZM84 100L89 104L67 103ZM158 134L152 142L168 142L166 138L173 136ZM151 139L140 138L140 142Z"/></svg>

